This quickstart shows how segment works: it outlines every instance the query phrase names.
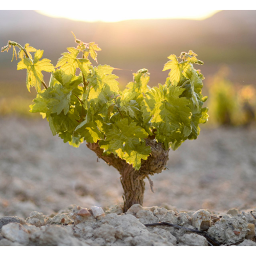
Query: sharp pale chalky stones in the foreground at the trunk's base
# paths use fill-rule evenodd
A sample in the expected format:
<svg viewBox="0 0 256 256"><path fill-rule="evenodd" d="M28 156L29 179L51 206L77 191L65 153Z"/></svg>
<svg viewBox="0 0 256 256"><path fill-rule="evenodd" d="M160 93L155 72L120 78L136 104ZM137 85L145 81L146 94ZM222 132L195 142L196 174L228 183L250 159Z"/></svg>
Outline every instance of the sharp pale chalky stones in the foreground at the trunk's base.
<svg viewBox="0 0 256 256"><path fill-rule="evenodd" d="M0 219L0 246L256 246L253 215L231 209L222 217L207 210L175 212L133 205L126 214L74 206L52 217Z"/></svg>

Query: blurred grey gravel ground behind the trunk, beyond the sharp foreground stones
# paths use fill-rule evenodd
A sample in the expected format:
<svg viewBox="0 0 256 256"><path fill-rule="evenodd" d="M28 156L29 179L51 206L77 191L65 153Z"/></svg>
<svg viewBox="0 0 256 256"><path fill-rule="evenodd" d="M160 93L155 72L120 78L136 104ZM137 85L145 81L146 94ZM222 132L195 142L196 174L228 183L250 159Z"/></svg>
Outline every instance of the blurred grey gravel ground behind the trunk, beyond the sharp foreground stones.
<svg viewBox="0 0 256 256"><path fill-rule="evenodd" d="M168 169L152 177L154 194L146 184L143 206L255 210L255 156L255 127L204 128L170 152ZM0 118L0 218L50 216L70 205L105 210L122 203L119 178L86 144L73 148L53 137L46 120Z"/></svg>

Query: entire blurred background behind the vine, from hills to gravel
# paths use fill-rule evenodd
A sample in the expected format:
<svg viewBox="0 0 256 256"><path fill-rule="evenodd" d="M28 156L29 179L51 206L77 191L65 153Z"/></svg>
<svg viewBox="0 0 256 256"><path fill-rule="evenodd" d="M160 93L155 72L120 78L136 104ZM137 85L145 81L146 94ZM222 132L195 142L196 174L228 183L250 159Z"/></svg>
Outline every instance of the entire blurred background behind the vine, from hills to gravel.
<svg viewBox="0 0 256 256"><path fill-rule="evenodd" d="M73 31L82 41L99 45L99 64L120 69L113 72L120 87L142 68L151 73L150 86L163 84L167 56L189 50L198 54L204 61L196 68L205 76L209 122L201 125L196 141L170 152L170 170L152 178L155 194L149 187L145 194L146 206L167 203L195 210L256 206L255 28L256 10L221 10L203 20L116 23L0 10L1 47L8 40L29 43L44 50L44 57L55 65L67 47L75 46ZM18 215L22 207L20 215L26 216L30 210L50 214L69 203L85 207L120 203L117 172L97 163L86 145L72 148L52 138L47 121L29 112L36 93L27 91L26 71L17 71L17 61L11 58L12 52L0 54L0 217Z"/></svg>

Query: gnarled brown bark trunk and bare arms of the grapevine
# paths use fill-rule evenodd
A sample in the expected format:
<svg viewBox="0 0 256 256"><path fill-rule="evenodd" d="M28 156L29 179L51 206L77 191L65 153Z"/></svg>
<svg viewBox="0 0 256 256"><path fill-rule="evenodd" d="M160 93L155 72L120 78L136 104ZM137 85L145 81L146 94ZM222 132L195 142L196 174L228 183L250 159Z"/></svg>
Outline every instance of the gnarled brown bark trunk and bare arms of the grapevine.
<svg viewBox="0 0 256 256"><path fill-rule="evenodd" d="M103 155L103 150L98 143L88 143L90 150L94 151L97 156L103 159L109 165L114 166L121 175L121 183L124 190L123 200L126 212L133 204L143 205L145 191L145 178L149 175L161 173L165 169L168 161L169 150L165 150L162 143L155 140L146 139L146 145L151 146L151 155L147 160L141 161L139 170L135 170L131 164L126 163L113 153Z"/></svg>

